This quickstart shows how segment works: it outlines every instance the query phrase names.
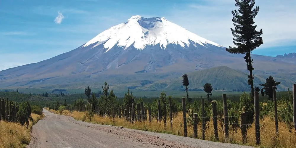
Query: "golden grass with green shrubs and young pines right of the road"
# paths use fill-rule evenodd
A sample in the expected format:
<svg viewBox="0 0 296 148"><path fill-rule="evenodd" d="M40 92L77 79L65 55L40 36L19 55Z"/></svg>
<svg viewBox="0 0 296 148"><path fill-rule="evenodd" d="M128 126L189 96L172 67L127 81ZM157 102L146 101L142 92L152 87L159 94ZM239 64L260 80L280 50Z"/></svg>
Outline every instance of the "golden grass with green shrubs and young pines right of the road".
<svg viewBox="0 0 296 148"><path fill-rule="evenodd" d="M186 81L186 76L185 76ZM188 83L187 83L188 84ZM272 77L267 78L266 83L260 95L260 147L296 147L295 129L293 128L293 116L292 116L292 92L278 92L277 93L277 115L279 120L279 137L276 136L275 129L275 118L274 118L274 102L272 93L269 88L278 85L279 82L273 80ZM189 85L187 85L189 86ZM184 91L184 97L186 99L186 123L187 123L187 136L193 137L193 113L198 114L197 120L197 138L202 139L202 107L201 99L205 99L204 112L205 115L205 140L229 142L234 144L244 144L249 146L256 146L255 144L255 122L254 122L254 100L252 96L247 93L241 95L235 95L227 98L227 107L229 115L229 139L225 138L225 127L224 127L224 116L223 116L223 102L221 98L211 97L213 86L210 83L205 83L204 91L207 93L205 98L190 98L190 92ZM265 91L264 91L265 90ZM255 91L258 91L255 89ZM76 120L85 122L98 123L102 125L115 125L123 126L126 128L139 129L144 131L170 133L175 135L184 136L184 122L182 115L182 104L180 98L172 98L167 96L165 91L160 93L160 97L156 99L149 99L149 102L145 102L143 98L135 98L133 93L128 90L123 100L117 100L116 96L113 95L112 89L109 90L109 86L106 83L102 86L102 94L99 98L96 98L94 94L91 95L91 88L86 87L85 95L86 100L77 99L73 104L62 104L55 102L49 104L46 107L50 112L73 117ZM169 106L168 102L171 100L171 111L172 111L172 128L170 129L169 120ZM193 100L192 102L189 102ZM217 118L218 118L218 135L219 140L215 139L214 124L213 124L213 108L211 101L215 100L217 103ZM160 101L160 117L158 116L158 101ZM117 112L117 110L124 105L133 106L135 104L141 104L146 107L144 110L144 116L147 117L145 121L133 121L126 119L126 114L123 116L123 112ZM166 114L164 110L164 104L166 104ZM66 106L64 106L66 105ZM97 107L97 108L96 108ZM119 107L119 108L117 108ZM98 109L96 110L96 109ZM151 122L149 122L149 115L147 112L148 108L151 109ZM135 110L135 114L138 113L143 115L141 111ZM241 131L241 112L242 110L247 115L247 142L242 143L242 131ZM115 115L112 114L115 112ZM132 112L132 110L130 111ZM166 125L164 124L166 116ZM129 118L131 118L131 113Z"/></svg>

